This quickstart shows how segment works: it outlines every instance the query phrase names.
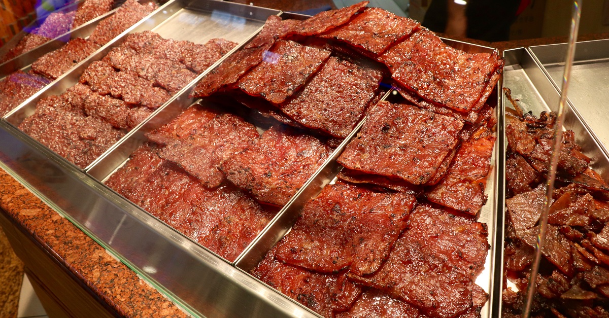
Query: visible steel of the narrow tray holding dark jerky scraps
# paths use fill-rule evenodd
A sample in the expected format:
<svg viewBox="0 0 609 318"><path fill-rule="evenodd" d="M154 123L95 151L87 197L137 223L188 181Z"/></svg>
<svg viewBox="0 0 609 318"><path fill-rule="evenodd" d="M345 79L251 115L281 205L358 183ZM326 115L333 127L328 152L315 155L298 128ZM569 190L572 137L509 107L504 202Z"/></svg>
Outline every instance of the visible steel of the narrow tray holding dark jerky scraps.
<svg viewBox="0 0 609 318"><path fill-rule="evenodd" d="M579 44L578 44L579 45ZM560 101L560 93L553 85L551 79L546 77L541 65L539 65L532 54L524 48L511 49L504 51L505 68L503 74L503 87L512 90L512 97L519 99L518 104L523 108L523 111L532 111L533 115L539 116L541 111L556 111L558 102ZM505 113L505 108L513 108L512 104L504 97L501 92L501 113ZM604 180L609 180L609 158L602 150L601 145L593 137L591 130L585 125L582 119L579 118L574 111L571 103L565 110L565 129L573 130L576 135L576 143L582 147L582 152L591 158L590 168L598 172ZM504 116L500 117L499 122L500 132L498 140L501 140L501 149L499 155L505 158L505 150L507 140L505 139L505 121ZM505 174L505 160L503 162L502 174ZM501 189L499 193L498 206L498 234L501 237L496 238L498 242L503 241L504 233L504 217L505 217L505 177L501 178ZM503 290L502 275L503 275L503 244L497 244L497 265L498 271L495 273L495 288L496 295L493 300L497 308L496 313L501 313L501 292Z"/></svg>

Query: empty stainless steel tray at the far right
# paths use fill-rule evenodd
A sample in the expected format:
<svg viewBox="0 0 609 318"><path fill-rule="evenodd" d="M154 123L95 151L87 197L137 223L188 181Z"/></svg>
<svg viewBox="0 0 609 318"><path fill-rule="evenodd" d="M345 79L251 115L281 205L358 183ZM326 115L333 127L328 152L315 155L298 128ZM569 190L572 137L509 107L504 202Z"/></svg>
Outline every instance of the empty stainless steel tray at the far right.
<svg viewBox="0 0 609 318"><path fill-rule="evenodd" d="M531 46L529 50L560 92L567 44ZM609 40L577 43L569 82L569 101L574 111L582 118L583 124L599 141L601 149L609 155L608 83Z"/></svg>

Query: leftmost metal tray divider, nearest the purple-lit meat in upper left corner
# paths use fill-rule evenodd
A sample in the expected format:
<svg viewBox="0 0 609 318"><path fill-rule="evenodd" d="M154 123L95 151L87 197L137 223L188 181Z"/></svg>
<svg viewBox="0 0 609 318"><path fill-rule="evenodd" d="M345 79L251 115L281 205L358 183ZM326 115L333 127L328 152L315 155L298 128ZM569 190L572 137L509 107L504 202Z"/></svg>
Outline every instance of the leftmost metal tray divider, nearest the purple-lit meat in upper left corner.
<svg viewBox="0 0 609 318"><path fill-rule="evenodd" d="M145 4L149 2L155 2L153 0L139 0L140 4ZM86 38L93 33L93 30L97 27L97 25L105 18L116 13L116 10L119 8L112 9L109 12L104 13L103 15L97 16L97 18L91 19L86 23L81 24L80 26L62 34L48 42L37 46L35 49L32 49L28 52L25 52L21 55L18 55L7 62L0 64L0 79L9 75L12 72L17 71L18 69L25 70L32 65L35 60L42 57L44 54L47 54L51 51L55 51L56 49L61 48L64 44L66 44L66 38L69 37L70 40L74 38Z"/></svg>

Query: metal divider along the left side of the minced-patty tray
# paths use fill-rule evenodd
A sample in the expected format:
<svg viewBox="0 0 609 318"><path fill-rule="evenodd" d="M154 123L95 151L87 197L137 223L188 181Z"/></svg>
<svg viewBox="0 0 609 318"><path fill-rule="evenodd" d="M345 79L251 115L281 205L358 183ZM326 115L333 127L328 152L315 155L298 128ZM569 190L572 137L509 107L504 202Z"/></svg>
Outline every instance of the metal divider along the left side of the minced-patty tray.
<svg viewBox="0 0 609 318"><path fill-rule="evenodd" d="M177 0L167 1L166 4L161 5L160 7L158 7L157 10L154 10L152 13L145 16L143 19L133 24L133 26L128 27L127 30L113 38L110 42L104 44L104 46L97 49L97 51L93 52L93 54L80 61L77 65L74 65L74 67L69 69L62 76L57 77L57 79L49 83L49 85L46 85L46 87L44 87L42 90L30 96L28 99L26 99L26 101L14 108L12 111L9 111L9 113L4 116L4 119L15 126L18 126L24 118L33 113L33 110L36 108L36 105L38 104L38 101L40 101L40 99L51 95L62 94L69 87L72 87L72 85L78 83L80 74L82 74L82 72L87 66L89 66L93 62L101 60L102 57L108 54L110 49L114 48L114 46L118 46L119 44L121 44L124 40L124 37L130 34L132 30L149 29L146 25L141 25L149 21L150 19L153 19L154 21L154 18L158 19L158 16L167 15L166 12L169 11L168 8L172 6L176 1Z"/></svg>

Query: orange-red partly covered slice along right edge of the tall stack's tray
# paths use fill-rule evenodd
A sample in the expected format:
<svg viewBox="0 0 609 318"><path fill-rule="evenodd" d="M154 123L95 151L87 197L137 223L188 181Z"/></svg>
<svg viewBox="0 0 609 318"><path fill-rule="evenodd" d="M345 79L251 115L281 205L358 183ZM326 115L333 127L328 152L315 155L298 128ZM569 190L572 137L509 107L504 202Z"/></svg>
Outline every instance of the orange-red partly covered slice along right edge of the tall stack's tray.
<svg viewBox="0 0 609 318"><path fill-rule="evenodd" d="M431 202L476 215L487 202L484 183L490 171L496 137L486 127L478 129L457 150L448 171L426 197Z"/></svg>

